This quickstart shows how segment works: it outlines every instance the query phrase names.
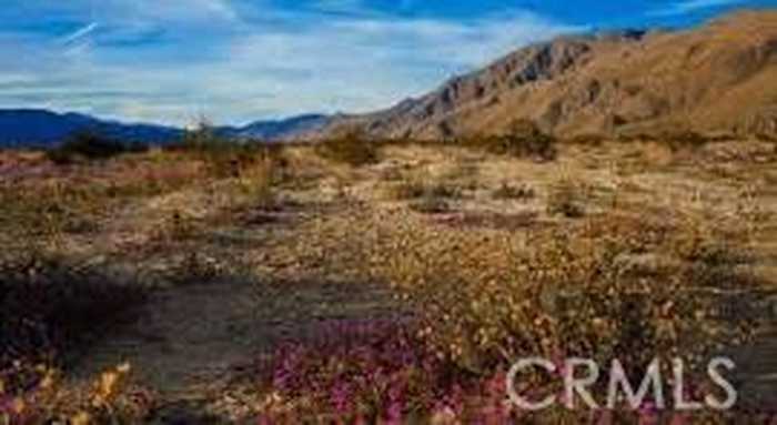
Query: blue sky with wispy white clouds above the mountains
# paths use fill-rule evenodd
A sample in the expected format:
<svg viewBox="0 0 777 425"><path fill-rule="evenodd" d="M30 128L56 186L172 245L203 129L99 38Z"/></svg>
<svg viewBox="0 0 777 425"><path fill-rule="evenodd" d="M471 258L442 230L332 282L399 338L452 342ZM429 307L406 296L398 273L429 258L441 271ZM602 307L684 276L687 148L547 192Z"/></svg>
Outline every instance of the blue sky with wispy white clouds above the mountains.
<svg viewBox="0 0 777 425"><path fill-rule="evenodd" d="M0 108L186 125L364 112L565 33L777 0L4 0Z"/></svg>

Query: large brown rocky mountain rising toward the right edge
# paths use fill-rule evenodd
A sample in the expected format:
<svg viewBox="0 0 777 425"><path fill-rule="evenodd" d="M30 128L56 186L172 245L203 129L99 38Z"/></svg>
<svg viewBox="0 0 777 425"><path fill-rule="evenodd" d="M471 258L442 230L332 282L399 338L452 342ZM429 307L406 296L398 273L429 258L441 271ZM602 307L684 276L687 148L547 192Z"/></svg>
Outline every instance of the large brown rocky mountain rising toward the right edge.
<svg viewBox="0 0 777 425"><path fill-rule="evenodd" d="M777 12L738 12L678 32L564 37L387 110L340 117L389 138L504 131L526 118L558 135L777 133Z"/></svg>

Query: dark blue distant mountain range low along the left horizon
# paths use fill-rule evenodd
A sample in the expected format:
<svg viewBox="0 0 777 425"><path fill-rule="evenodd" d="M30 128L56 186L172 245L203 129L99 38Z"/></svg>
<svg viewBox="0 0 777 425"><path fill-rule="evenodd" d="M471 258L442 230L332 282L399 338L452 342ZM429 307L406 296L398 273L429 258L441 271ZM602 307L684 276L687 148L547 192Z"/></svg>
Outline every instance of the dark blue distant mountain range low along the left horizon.
<svg viewBox="0 0 777 425"><path fill-rule="evenodd" d="M320 131L329 120L326 115L307 114L285 120L256 121L245 127L220 127L216 128L216 133L244 141L293 140L300 134ZM52 146L79 131L150 144L176 141L184 133L183 129L173 127L122 123L79 113L33 109L0 110L0 148Z"/></svg>

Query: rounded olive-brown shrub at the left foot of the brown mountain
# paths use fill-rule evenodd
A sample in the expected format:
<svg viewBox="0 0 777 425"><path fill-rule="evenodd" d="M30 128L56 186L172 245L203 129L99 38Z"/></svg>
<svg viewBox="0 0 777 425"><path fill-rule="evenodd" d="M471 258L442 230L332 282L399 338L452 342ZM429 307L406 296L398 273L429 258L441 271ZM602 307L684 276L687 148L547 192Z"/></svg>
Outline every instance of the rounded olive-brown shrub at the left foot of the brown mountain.
<svg viewBox="0 0 777 425"><path fill-rule="evenodd" d="M377 162L379 145L359 128L341 129L316 145L322 158L352 166Z"/></svg>

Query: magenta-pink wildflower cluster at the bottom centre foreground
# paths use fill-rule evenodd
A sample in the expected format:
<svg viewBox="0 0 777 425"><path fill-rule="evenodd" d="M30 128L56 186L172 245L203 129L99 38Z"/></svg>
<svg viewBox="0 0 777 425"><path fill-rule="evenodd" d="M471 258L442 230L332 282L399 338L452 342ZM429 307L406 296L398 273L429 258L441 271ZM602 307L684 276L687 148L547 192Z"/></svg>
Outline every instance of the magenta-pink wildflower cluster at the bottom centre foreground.
<svg viewBox="0 0 777 425"><path fill-rule="evenodd" d="M260 423L403 424L433 417L507 423L504 374L483 378L440 360L415 337L412 323L339 321L316 334L272 356L264 385L282 402Z"/></svg>

